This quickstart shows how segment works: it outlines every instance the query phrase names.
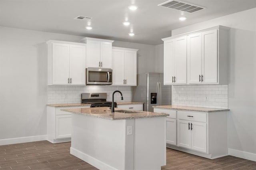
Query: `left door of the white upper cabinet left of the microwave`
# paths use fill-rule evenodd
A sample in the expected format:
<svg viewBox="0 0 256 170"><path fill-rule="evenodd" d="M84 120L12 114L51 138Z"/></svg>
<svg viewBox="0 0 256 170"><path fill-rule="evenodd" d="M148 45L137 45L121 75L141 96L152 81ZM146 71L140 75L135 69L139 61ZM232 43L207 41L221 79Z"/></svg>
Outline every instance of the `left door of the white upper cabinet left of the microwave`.
<svg viewBox="0 0 256 170"><path fill-rule="evenodd" d="M69 45L52 43L52 84L66 85L69 78Z"/></svg>

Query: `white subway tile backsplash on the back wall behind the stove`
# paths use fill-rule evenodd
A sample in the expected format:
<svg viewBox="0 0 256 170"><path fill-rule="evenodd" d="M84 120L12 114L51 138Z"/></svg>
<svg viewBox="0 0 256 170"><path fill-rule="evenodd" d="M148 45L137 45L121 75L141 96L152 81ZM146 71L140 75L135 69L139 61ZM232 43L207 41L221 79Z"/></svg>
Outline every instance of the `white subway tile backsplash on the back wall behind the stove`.
<svg viewBox="0 0 256 170"><path fill-rule="evenodd" d="M81 103L81 93L107 93L107 101L112 101L112 93L122 92L125 102L131 101L131 87L124 86L48 86L48 104ZM115 93L115 101L121 101L119 93Z"/></svg>

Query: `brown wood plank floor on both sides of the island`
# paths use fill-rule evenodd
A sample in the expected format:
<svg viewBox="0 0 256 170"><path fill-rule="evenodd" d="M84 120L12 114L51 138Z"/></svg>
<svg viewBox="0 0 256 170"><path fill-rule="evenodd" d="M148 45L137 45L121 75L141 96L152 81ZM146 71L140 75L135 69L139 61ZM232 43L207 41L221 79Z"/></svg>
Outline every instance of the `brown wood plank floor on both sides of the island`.
<svg viewBox="0 0 256 170"><path fill-rule="evenodd" d="M0 170L97 170L72 156L70 144L44 140L0 146ZM162 170L256 170L256 162L234 156L210 160L167 148L166 157Z"/></svg>

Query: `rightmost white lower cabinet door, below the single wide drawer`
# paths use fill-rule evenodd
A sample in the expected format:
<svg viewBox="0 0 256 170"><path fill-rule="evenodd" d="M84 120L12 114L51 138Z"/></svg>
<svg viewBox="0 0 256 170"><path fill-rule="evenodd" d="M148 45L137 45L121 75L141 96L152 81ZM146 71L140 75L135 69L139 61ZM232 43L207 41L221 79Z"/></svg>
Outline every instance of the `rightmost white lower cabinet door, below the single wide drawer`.
<svg viewBox="0 0 256 170"><path fill-rule="evenodd" d="M191 122L191 149L201 152L207 151L206 123Z"/></svg>

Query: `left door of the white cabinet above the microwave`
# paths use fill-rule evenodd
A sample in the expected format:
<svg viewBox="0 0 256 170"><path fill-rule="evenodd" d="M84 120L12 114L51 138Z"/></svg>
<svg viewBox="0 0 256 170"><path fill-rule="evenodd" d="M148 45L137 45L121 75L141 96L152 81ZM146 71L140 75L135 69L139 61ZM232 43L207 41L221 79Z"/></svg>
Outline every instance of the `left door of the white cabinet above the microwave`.
<svg viewBox="0 0 256 170"><path fill-rule="evenodd" d="M87 66L100 67L100 41L87 41Z"/></svg>

